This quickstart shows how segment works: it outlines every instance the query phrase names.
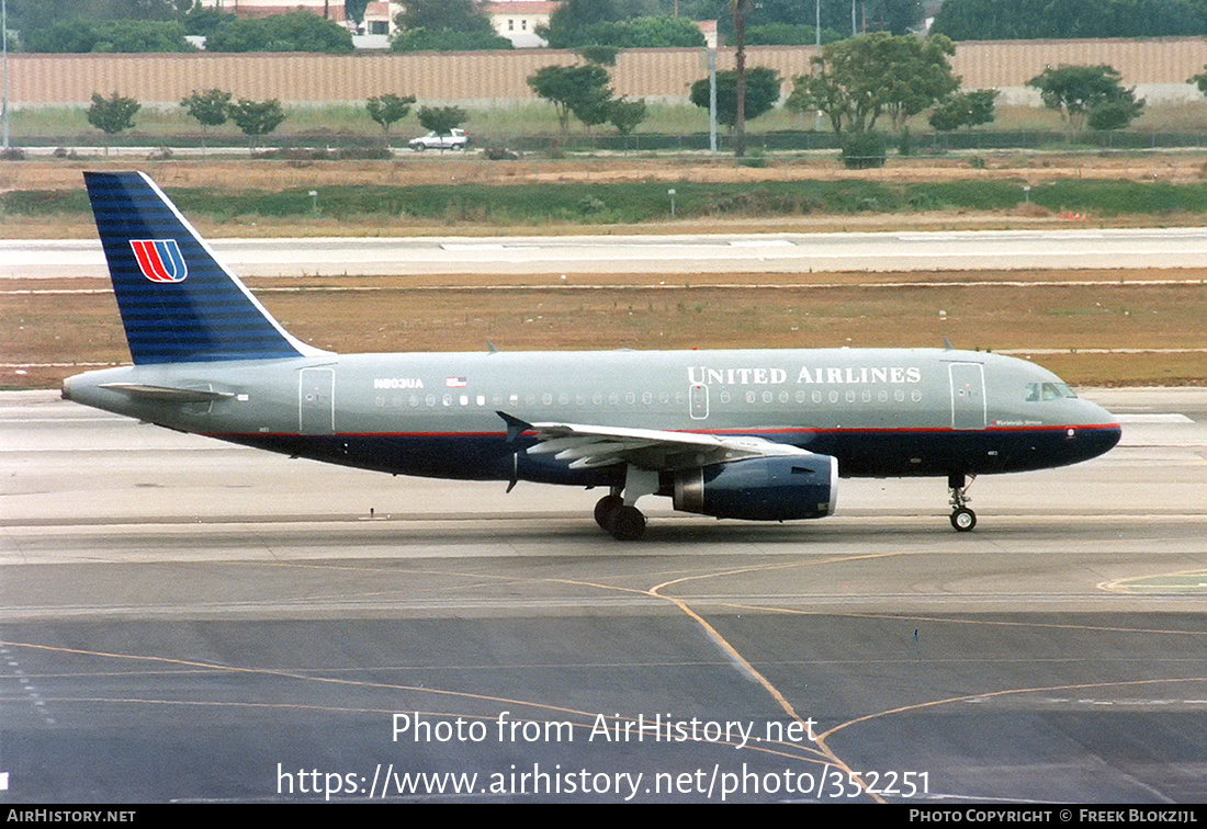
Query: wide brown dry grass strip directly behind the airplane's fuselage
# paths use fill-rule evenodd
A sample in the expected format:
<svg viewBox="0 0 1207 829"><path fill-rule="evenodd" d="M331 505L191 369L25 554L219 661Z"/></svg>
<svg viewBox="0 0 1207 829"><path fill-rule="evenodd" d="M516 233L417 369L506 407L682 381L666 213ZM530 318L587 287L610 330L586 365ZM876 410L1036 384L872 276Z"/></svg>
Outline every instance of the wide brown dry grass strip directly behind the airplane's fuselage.
<svg viewBox="0 0 1207 829"><path fill-rule="evenodd" d="M1160 274L1046 273L1042 279L1144 279ZM1167 274L1168 275L1168 274ZM1094 354L1089 349L1196 349L1205 345L1207 291L1201 284L1079 286L906 286L886 281L993 281L1002 274L814 274L775 288L659 286L629 274L628 287L527 286L498 280L447 280L457 290L412 287L403 279L252 280L281 323L334 351L940 346L1057 350L1037 357L1079 385L1171 385L1207 379L1207 354ZM1020 274L1011 274L1011 279ZM1026 274L1021 275L1024 279ZM1031 275L1037 276L1036 274ZM1197 279L1177 272L1178 279ZM757 275L747 275L757 279ZM718 278L719 279L719 278ZM742 280L742 275L725 275ZM812 280L814 285L807 281ZM616 285L613 278L595 284ZM68 281L64 280L64 284ZM98 280L70 280L99 287ZM820 286L818 282L838 284ZM881 285L877 286L876 284ZM412 285L412 286L409 286ZM495 287L485 287L495 285ZM308 287L307 287L308 286ZM474 287L479 286L479 287ZM46 290L52 285L14 285ZM282 290L303 287L302 291ZM128 361L112 294L0 293L0 341L7 343L0 386L46 387L86 367L40 363ZM17 374L24 370L24 374Z"/></svg>

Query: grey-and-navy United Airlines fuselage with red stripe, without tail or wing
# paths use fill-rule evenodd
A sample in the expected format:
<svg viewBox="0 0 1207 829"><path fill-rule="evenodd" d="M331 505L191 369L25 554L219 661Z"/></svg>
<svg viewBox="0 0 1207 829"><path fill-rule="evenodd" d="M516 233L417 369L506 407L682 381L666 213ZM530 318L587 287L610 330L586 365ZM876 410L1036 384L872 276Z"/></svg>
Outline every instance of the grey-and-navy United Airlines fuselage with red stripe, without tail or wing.
<svg viewBox="0 0 1207 829"><path fill-rule="evenodd" d="M199 399L154 387L198 390ZM527 422L754 436L842 477L955 475L1086 460L1115 419L1030 362L956 350L365 354L132 366L70 399L169 428L397 474L617 485L507 440Z"/></svg>

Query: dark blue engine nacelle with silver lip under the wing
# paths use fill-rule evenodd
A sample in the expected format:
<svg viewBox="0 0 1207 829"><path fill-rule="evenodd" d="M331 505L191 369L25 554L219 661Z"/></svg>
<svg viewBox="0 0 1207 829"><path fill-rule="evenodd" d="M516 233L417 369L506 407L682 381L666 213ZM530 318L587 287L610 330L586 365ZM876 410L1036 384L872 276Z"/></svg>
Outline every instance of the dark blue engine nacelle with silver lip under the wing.
<svg viewBox="0 0 1207 829"><path fill-rule="evenodd" d="M675 473L675 509L716 518L824 518L838 501L838 459L752 457Z"/></svg>

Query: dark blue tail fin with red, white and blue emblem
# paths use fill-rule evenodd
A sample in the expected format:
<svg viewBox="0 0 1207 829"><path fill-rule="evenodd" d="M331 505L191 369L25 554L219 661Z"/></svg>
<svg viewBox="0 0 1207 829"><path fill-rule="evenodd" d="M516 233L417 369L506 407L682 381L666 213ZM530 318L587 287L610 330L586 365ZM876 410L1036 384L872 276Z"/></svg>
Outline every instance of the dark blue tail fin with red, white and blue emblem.
<svg viewBox="0 0 1207 829"><path fill-rule="evenodd" d="M142 173L84 173L135 363L315 354L291 337Z"/></svg>

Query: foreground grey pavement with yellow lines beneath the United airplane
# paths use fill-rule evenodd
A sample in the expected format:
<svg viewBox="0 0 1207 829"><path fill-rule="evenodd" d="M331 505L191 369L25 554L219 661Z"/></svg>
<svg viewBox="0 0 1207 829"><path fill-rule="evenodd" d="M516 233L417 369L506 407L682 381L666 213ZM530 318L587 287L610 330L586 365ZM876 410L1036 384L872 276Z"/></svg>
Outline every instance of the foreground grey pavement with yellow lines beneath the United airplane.
<svg viewBox="0 0 1207 829"><path fill-rule="evenodd" d="M1120 446L973 533L844 480L618 544L597 492L0 395L0 802L1202 802L1207 391L1088 396Z"/></svg>

